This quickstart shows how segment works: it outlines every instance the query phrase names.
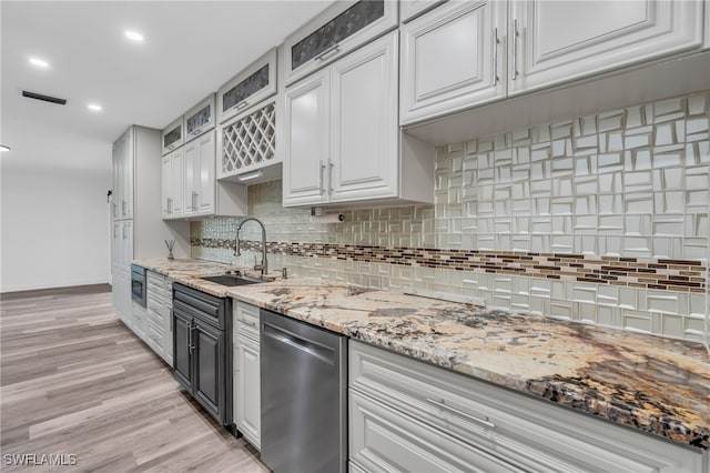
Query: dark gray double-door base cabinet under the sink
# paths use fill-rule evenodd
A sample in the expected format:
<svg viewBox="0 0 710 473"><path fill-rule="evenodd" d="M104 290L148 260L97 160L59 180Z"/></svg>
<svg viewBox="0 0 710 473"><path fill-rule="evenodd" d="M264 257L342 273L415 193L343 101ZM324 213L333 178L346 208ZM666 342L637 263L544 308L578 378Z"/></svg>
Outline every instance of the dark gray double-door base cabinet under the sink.
<svg viewBox="0 0 710 473"><path fill-rule="evenodd" d="M232 423L229 300L180 286L173 296L173 375L222 425ZM226 325L230 325L226 330Z"/></svg>

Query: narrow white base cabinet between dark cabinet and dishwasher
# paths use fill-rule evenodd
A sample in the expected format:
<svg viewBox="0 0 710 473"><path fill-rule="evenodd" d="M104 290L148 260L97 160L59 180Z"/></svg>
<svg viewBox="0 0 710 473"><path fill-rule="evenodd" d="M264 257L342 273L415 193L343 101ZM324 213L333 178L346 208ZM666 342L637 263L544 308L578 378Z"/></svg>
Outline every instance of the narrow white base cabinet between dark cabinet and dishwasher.
<svg viewBox="0 0 710 473"><path fill-rule="evenodd" d="M236 427L261 449L258 308L234 301L234 419Z"/></svg>

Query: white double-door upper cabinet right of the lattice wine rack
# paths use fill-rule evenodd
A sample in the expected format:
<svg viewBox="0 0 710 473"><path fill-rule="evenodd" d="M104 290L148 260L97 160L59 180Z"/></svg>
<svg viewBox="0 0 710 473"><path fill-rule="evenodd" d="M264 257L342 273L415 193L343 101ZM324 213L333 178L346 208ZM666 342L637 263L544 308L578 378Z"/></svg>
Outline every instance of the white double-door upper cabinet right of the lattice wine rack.
<svg viewBox="0 0 710 473"><path fill-rule="evenodd" d="M286 89L285 207L433 200L434 151L399 142L397 83L395 32Z"/></svg>

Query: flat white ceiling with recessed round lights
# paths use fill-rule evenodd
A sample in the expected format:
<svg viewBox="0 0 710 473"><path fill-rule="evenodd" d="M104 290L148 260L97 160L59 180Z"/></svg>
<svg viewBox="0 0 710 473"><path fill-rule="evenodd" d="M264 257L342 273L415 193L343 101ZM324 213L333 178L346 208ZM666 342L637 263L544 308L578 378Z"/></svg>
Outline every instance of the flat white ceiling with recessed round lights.
<svg viewBox="0 0 710 473"><path fill-rule="evenodd" d="M129 125L162 129L329 3L2 0L0 142L12 148L2 168L108 169ZM144 42L129 41L126 29ZM68 103L22 98L22 89Z"/></svg>

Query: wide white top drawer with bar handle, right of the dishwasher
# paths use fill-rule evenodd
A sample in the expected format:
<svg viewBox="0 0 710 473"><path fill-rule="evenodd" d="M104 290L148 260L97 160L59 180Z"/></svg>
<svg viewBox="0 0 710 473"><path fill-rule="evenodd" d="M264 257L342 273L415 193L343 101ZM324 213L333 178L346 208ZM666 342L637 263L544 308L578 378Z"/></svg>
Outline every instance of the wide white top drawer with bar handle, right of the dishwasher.
<svg viewBox="0 0 710 473"><path fill-rule="evenodd" d="M700 471L694 449L351 342L349 386L527 471Z"/></svg>

